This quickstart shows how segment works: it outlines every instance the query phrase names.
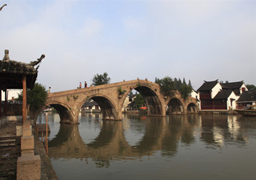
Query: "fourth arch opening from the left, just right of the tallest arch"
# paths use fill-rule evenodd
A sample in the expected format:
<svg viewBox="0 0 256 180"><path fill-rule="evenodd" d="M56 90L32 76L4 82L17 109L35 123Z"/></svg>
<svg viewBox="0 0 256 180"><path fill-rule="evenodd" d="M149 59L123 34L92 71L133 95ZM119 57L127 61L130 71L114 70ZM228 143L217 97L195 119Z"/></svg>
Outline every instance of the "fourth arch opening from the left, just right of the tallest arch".
<svg viewBox="0 0 256 180"><path fill-rule="evenodd" d="M170 115L181 115L184 114L184 108L182 102L177 98L173 98L167 104L167 114Z"/></svg>

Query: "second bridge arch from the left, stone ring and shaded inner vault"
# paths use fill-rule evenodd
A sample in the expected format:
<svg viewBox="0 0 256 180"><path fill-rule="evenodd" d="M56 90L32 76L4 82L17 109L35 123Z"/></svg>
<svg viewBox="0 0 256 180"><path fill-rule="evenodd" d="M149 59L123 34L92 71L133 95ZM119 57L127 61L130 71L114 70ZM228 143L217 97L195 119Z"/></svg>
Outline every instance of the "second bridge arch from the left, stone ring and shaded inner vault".
<svg viewBox="0 0 256 180"><path fill-rule="evenodd" d="M94 96L87 96L86 100L92 99L94 100L102 112L102 119L118 119L117 108L115 108L114 103L108 96L104 96L102 94L97 94ZM82 101L82 104L86 102L86 100ZM80 108L82 108L82 104L80 104Z"/></svg>

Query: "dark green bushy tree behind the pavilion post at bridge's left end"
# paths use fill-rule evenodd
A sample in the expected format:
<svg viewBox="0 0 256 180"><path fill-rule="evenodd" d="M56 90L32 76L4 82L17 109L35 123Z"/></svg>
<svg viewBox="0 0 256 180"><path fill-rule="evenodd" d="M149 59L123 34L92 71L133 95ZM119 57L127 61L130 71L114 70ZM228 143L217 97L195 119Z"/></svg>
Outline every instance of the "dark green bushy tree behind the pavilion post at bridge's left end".
<svg viewBox="0 0 256 180"><path fill-rule="evenodd" d="M22 94L18 95L18 100L22 100ZM33 89L29 89L26 92L27 104L30 104L30 108L38 109L46 104L46 87L42 84L35 83Z"/></svg>

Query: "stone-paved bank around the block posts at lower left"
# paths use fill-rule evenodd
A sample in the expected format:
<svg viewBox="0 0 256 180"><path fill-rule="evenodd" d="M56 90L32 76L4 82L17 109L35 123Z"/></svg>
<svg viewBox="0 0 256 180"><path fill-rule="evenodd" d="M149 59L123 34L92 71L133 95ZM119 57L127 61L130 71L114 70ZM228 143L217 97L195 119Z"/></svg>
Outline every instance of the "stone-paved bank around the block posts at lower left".
<svg viewBox="0 0 256 180"><path fill-rule="evenodd" d="M0 126L0 179L16 179L17 161L21 156L21 136L16 136L17 121L9 121L5 117L0 121L5 122ZM33 134L34 155L39 155L41 158L41 179L58 179L45 147L35 131Z"/></svg>

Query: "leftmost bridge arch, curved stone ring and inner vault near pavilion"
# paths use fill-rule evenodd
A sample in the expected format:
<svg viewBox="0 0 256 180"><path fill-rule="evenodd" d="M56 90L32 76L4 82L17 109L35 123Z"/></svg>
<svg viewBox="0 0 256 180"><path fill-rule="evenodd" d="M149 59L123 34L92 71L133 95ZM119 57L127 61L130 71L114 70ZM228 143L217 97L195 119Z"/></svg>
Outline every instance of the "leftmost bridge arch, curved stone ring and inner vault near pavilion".
<svg viewBox="0 0 256 180"><path fill-rule="evenodd" d="M58 112L58 115L60 116L61 123L78 123L74 119L74 113L71 112L71 108L68 107L66 104L62 104L61 102L54 101L54 102L48 102L46 104L46 107L50 106Z"/></svg>

